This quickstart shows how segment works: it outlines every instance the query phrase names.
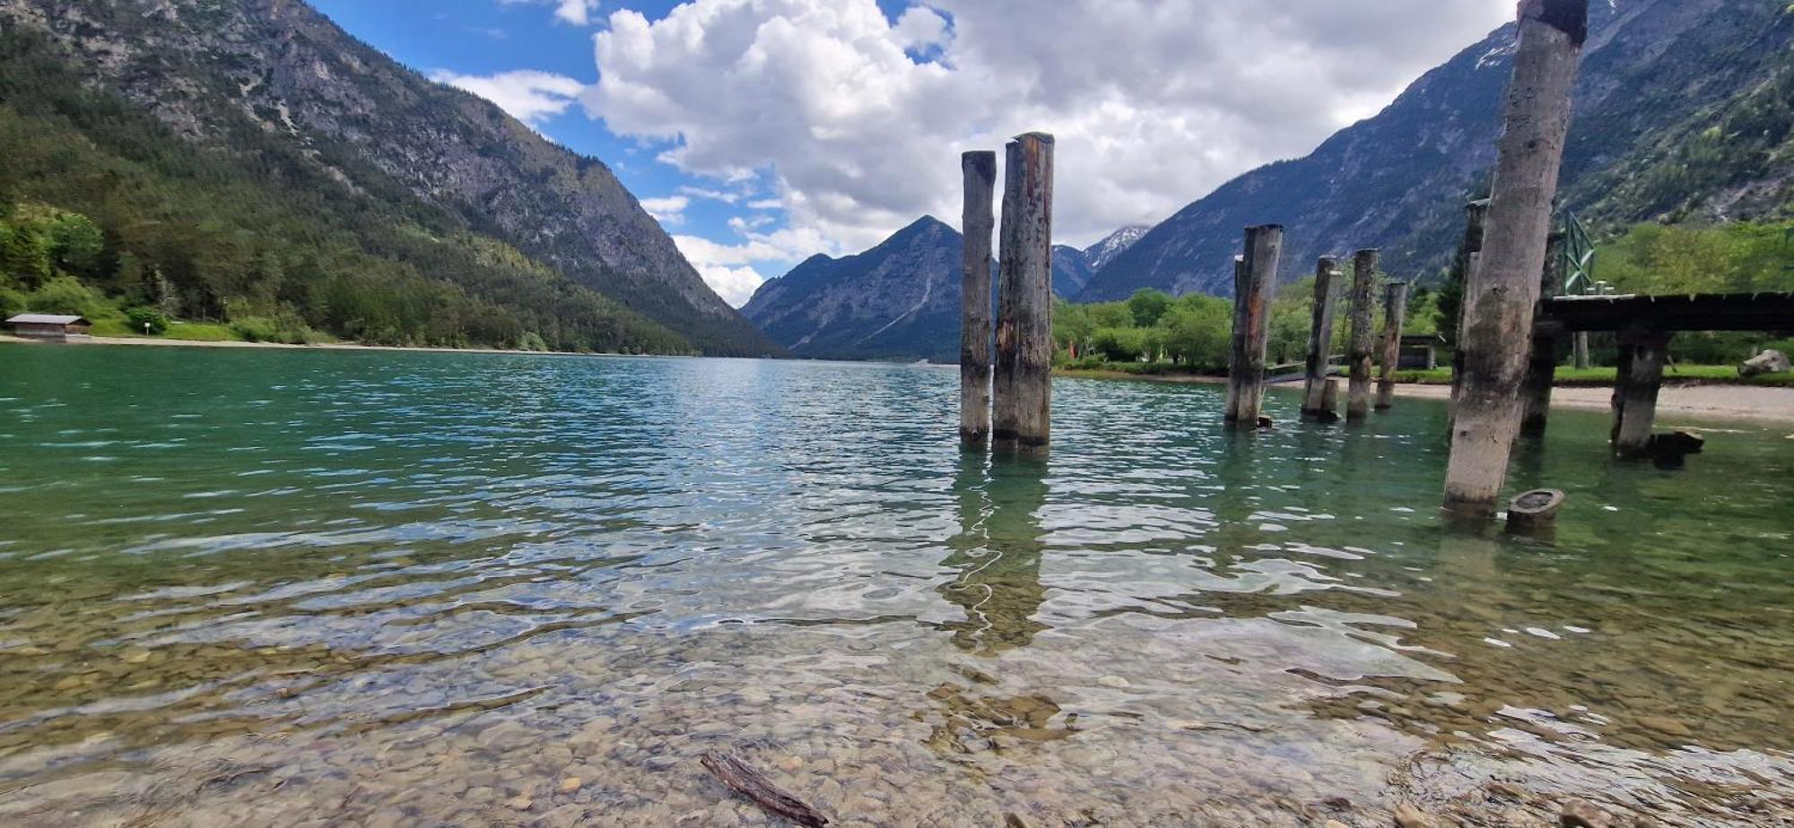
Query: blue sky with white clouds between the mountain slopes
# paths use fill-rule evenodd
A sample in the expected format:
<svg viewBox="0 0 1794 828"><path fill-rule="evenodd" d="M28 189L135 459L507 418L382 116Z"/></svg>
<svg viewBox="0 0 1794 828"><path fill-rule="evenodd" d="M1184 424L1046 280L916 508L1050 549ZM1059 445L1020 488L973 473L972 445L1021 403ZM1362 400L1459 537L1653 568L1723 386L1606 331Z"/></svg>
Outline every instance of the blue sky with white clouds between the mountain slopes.
<svg viewBox="0 0 1794 828"><path fill-rule="evenodd" d="M730 305L922 215L1046 131L1055 242L1308 154L1514 0L312 0L610 165Z"/></svg>

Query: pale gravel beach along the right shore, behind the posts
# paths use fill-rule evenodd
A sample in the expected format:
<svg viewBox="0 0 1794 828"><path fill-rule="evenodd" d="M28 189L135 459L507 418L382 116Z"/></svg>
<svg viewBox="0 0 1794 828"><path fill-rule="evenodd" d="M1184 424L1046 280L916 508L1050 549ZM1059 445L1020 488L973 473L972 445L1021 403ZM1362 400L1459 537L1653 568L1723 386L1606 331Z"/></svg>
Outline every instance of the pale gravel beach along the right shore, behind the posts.
<svg viewBox="0 0 1794 828"><path fill-rule="evenodd" d="M1225 385L1225 376L1150 376L1125 371L1055 371L1078 380L1164 382L1175 385ZM1272 387L1299 387L1283 384ZM1396 384L1396 396L1448 400L1451 385ZM1554 385L1552 409L1611 410L1613 385ZM1794 425L1794 389L1774 385L1722 385L1665 382L1658 396L1658 421L1665 418L1733 419L1760 425Z"/></svg>

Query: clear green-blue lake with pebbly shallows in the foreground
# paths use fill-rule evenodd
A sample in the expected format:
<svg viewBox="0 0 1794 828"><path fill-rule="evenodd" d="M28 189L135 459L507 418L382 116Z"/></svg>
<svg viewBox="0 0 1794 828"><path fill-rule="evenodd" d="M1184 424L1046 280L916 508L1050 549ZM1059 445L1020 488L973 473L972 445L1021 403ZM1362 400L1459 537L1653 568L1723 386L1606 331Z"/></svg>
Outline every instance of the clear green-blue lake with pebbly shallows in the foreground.
<svg viewBox="0 0 1794 828"><path fill-rule="evenodd" d="M0 823L1555 823L1794 814L1794 439L1555 412L1554 539L1448 530L1444 409L1229 434L956 369L0 346ZM1659 423L1672 427L1677 423ZM1518 491L1518 489L1516 489Z"/></svg>

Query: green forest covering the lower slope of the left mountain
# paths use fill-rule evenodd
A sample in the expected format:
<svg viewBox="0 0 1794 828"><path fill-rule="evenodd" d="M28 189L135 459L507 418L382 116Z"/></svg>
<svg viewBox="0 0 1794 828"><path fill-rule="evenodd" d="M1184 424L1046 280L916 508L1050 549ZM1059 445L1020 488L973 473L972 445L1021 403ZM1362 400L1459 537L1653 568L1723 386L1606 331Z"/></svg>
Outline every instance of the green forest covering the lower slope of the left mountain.
<svg viewBox="0 0 1794 828"><path fill-rule="evenodd" d="M127 310L237 339L692 353L678 333L418 199L348 188L244 124L183 142L0 34L0 312Z"/></svg>

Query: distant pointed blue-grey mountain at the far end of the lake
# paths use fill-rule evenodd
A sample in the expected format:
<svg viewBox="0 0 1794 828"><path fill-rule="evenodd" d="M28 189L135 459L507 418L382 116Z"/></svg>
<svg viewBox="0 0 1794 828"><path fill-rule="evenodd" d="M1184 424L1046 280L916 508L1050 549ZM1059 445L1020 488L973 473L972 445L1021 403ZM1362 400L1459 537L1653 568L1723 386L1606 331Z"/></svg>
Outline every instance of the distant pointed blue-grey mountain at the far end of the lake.
<svg viewBox="0 0 1794 828"><path fill-rule="evenodd" d="M958 362L963 246L960 231L924 215L856 256L804 260L741 312L795 357ZM1084 251L1055 246L1055 292L1082 278Z"/></svg>

